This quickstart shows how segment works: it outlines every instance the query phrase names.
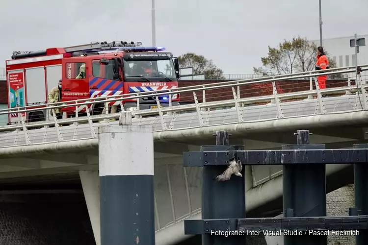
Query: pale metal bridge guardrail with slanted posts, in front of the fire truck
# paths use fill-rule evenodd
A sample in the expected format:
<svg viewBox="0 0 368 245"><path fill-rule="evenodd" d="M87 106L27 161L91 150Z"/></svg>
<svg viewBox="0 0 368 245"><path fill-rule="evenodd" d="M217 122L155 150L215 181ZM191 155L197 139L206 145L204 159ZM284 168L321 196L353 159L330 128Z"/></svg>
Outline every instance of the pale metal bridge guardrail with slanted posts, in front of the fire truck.
<svg viewBox="0 0 368 245"><path fill-rule="evenodd" d="M368 70L368 65L362 66L362 71ZM120 104L120 110L125 110L123 101L126 99L136 99L136 98L144 98L148 95L150 96L156 96L156 102L157 102L157 109L148 109L148 110L139 110L139 103L136 107L130 108L133 110L133 116L134 117L146 117L146 116L158 116L163 122L163 114L172 114L172 113L179 113L179 112L196 112L198 115L198 118L200 118L201 111L209 111L211 109L218 109L221 107L235 107L237 110L237 116L239 118L239 122L243 122L241 118L240 113L240 107L248 106L250 104L256 104L261 105L264 103L268 103L270 101L274 101L276 103L276 106L278 108L278 118L283 118L282 112L280 111L280 103L291 101L295 99L301 99L306 98L308 96L315 96L319 102L319 104L323 104L322 102L322 94L323 95L333 95L333 94L344 94L346 92L356 92L361 91L363 93L363 98L366 98L366 90L362 88L365 88L364 83L361 83L361 85L352 85L354 81L351 81L350 78L347 78L346 81L342 83L343 87L335 87L335 88L328 88L324 90L320 90L319 88L313 89L313 82L312 79L310 81L310 84L307 87L301 87L298 88L297 92L291 92L291 93L285 93L283 90L288 90L283 87L283 83L285 83L285 80L290 79L297 79L297 78L313 78L316 74L324 73L326 75L332 75L332 74L342 74L342 73L354 73L355 70L351 69L350 67L347 68L337 68L337 69L331 69L331 71L326 72L309 72L307 74L303 73L301 75L280 75L275 76L272 78L266 77L265 79L250 79L250 80L238 80L238 81L227 81L227 82L221 82L221 83L215 83L215 84L205 84L205 85L197 85L197 86L190 86L190 87L184 87L184 88L178 88L173 90L164 90L164 91L158 91L157 93L149 93L149 92L142 92L142 93L134 93L124 96L110 96L105 98L94 98L94 99L80 99L75 101L68 101L67 103L59 102L59 103L53 103L53 104L45 104L45 105L31 105L26 107L18 107L18 108L11 108L11 109L3 109L0 110L0 115L5 114L14 114L18 115L18 118L20 119L18 121L18 124L13 125L7 125L0 127L0 131L5 130L15 130L15 129L22 129L27 127L43 127L43 126L52 126L55 124L65 124L65 123L83 123L88 122L92 123L92 121L95 120L108 120L108 119L117 119L118 113L112 113L108 114L108 111L106 110L104 114L102 115L90 115L88 105L93 105L96 103L108 103L113 101L118 101ZM263 86L268 83L269 86ZM279 84L277 84L279 83ZM314 82L315 85L317 85L317 82ZM259 86L262 85L262 86ZM247 89L241 89L242 87L248 86ZM249 87L253 86L253 87ZM230 91L225 91L226 89L231 89ZM214 96L213 91L214 90L220 90L220 95ZM252 91L251 91L252 90ZM267 95L261 95L261 96L252 96L249 97L249 94L260 94L260 92L263 92L263 94ZM212 93L210 93L212 91ZM197 96L196 92L202 92L202 95ZM280 93L281 92L281 93ZM171 95L177 94L177 93L192 93L193 94L193 100L194 104L187 104L187 105L178 105L178 106L172 106L171 104ZM227 93L232 95L232 99L225 99L223 100L224 93ZM158 96L169 96L169 103L167 107L163 107L162 103L158 100ZM206 97L209 97L209 95L212 96L212 101L207 102ZM201 96L201 102L198 99ZM183 101L185 98L182 98L181 101ZM366 108L366 105L363 106L364 103L367 103L366 99L363 99L362 101L362 107ZM55 111L57 109L60 109L62 107L71 107L75 106L78 107L84 107L86 108L87 115L85 117L79 117L78 110L75 115L75 117L68 118L68 119L57 119L56 117L51 117L51 120L41 121L41 122L35 122L35 123L27 123L25 116L20 117L21 114L24 115L24 113L34 112L34 111L40 111L40 110L47 110L47 111ZM34 108L37 107L37 108ZM322 106L323 107L323 106ZM324 109L321 107L321 112L323 113ZM119 109L119 108L118 108ZM47 113L54 116L53 113ZM201 120L200 120L201 121ZM162 123L164 124L164 123ZM203 122L201 122L201 126L203 126ZM162 125L162 130L167 130L167 126Z"/></svg>

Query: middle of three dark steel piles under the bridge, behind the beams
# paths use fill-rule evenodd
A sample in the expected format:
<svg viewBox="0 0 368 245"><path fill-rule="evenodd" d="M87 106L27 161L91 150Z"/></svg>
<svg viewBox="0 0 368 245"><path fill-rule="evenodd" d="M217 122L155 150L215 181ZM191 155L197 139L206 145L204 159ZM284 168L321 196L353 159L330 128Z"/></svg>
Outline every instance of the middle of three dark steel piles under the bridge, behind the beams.
<svg viewBox="0 0 368 245"><path fill-rule="evenodd" d="M309 144L309 130L298 130L296 145L284 145L283 150L324 149L325 145ZM303 154L303 153L302 153ZM308 158L306 157L306 160ZM326 216L325 164L286 164L283 166L283 206L293 210L295 217ZM285 236L284 245L327 245L327 236Z"/></svg>

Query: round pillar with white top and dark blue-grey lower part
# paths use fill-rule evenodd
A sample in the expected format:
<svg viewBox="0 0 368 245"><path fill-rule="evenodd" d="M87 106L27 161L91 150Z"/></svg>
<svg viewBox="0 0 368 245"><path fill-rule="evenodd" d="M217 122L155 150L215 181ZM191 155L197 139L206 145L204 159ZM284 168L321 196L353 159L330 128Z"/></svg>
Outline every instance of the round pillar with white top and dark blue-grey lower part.
<svg viewBox="0 0 368 245"><path fill-rule="evenodd" d="M155 245L152 126L99 127L101 245Z"/></svg>

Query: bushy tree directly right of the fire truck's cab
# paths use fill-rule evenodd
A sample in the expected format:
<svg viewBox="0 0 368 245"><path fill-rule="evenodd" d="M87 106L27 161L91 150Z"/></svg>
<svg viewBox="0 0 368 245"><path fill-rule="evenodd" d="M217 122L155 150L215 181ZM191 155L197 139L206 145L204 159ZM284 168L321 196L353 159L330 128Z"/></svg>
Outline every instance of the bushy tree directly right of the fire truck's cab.
<svg viewBox="0 0 368 245"><path fill-rule="evenodd" d="M205 75L206 79L225 79L223 71L203 55L185 53L178 57L179 67L193 67L193 75Z"/></svg>

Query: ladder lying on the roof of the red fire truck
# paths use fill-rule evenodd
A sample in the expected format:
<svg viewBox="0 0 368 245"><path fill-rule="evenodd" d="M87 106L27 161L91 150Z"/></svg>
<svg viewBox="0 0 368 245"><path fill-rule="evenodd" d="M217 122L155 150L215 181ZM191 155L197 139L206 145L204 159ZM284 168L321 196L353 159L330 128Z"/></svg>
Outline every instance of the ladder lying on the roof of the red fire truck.
<svg viewBox="0 0 368 245"><path fill-rule="evenodd" d="M64 50L68 53L70 52L78 52L78 51L87 51L91 49L113 49L113 48L120 48L120 47L137 47L141 46L141 42L137 42L136 44L134 42L127 43L124 41L118 41L118 42L91 42L90 44L83 44L83 45L77 45L77 46L71 46L71 47L65 47Z"/></svg>

